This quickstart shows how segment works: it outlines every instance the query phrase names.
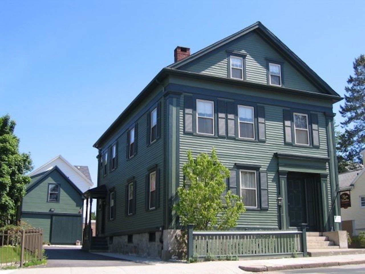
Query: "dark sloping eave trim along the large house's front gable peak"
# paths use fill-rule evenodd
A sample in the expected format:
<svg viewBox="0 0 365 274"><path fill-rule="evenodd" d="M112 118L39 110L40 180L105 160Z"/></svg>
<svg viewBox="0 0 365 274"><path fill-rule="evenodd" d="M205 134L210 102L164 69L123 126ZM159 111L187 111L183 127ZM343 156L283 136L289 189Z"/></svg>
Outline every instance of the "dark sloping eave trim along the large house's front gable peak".
<svg viewBox="0 0 365 274"><path fill-rule="evenodd" d="M190 64L198 62L209 54L217 52L220 48L233 43L235 40L240 39L249 33L256 33L260 35L260 37L264 39L266 43L268 43L273 49L280 53L289 62L289 64L297 70L296 76L299 76L299 73L303 75L303 77L305 77L308 81L308 84L304 85L305 88L310 90L309 83L311 83L316 87L318 92L339 96L326 82L324 82L311 68L309 68L307 64L305 64L298 56L296 56L295 53L293 53L283 42L280 41L280 39L271 33L261 22L256 22L233 35L230 35L208 47L205 47L191 56L169 65L168 68L184 70L184 68L188 67ZM310 91L313 91L313 88Z"/></svg>

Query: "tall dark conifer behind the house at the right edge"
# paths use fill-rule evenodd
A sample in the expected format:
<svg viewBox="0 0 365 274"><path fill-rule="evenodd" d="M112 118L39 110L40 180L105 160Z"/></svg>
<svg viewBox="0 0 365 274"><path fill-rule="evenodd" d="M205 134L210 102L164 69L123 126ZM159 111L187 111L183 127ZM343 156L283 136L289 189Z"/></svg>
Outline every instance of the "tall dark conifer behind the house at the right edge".
<svg viewBox="0 0 365 274"><path fill-rule="evenodd" d="M345 104L340 113L345 131L338 137L337 150L346 161L361 163L360 151L365 148L365 56L353 62L354 76L349 76L345 87Z"/></svg>

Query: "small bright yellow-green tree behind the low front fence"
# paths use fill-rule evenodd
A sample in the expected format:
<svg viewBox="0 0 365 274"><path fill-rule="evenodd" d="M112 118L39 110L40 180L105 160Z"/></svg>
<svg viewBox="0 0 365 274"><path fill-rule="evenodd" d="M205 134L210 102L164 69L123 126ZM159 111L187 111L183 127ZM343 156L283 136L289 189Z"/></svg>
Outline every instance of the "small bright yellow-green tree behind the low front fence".
<svg viewBox="0 0 365 274"><path fill-rule="evenodd" d="M174 206L183 226L194 224L198 230L225 230L237 225L245 207L239 196L226 191L228 168L212 154L201 153L193 159L188 151L188 161L183 166L184 186L177 189L178 202Z"/></svg>

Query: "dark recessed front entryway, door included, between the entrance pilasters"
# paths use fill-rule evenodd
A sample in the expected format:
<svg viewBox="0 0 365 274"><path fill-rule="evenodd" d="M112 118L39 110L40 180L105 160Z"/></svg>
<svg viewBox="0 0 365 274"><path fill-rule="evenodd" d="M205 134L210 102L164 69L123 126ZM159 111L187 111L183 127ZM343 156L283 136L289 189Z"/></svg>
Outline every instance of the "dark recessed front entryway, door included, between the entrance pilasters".
<svg viewBox="0 0 365 274"><path fill-rule="evenodd" d="M300 227L306 223L310 231L320 231L322 202L318 176L289 172L287 182L289 226Z"/></svg>

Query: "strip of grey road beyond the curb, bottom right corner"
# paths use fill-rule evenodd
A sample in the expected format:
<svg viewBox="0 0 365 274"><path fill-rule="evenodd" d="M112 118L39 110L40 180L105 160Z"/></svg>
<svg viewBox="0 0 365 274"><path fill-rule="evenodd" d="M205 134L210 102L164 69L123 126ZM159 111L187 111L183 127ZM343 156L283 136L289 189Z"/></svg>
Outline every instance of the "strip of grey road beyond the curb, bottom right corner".
<svg viewBox="0 0 365 274"><path fill-rule="evenodd" d="M266 272L268 274L287 274L287 273L330 273L330 274L364 274L365 265L347 265L347 266L332 266L332 267L321 267L321 268L309 268L301 270L283 270L277 272Z"/></svg>

